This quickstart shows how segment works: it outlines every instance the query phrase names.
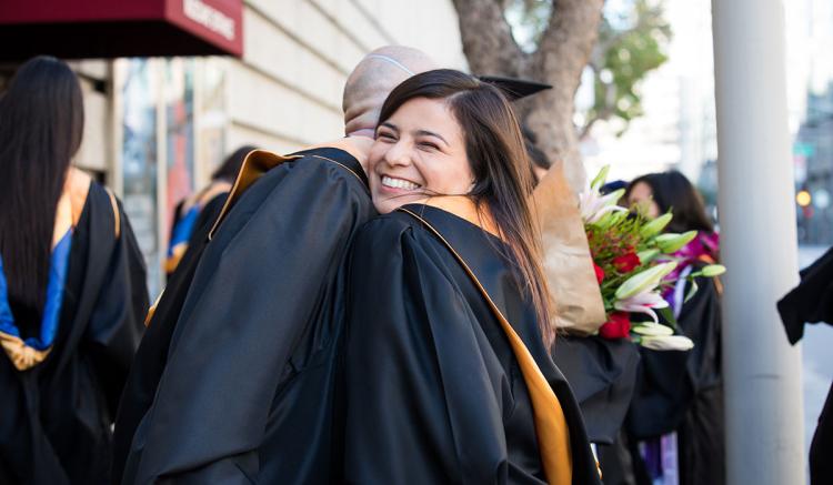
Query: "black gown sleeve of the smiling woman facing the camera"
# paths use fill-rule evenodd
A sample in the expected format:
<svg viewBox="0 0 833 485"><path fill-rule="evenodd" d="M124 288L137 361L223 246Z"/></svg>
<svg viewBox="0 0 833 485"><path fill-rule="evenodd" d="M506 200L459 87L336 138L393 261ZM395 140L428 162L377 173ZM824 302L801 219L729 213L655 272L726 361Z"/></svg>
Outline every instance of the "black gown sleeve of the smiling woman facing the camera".
<svg viewBox="0 0 833 485"><path fill-rule="evenodd" d="M450 269L414 232L380 219L354 244L345 482L506 483L510 384Z"/></svg>

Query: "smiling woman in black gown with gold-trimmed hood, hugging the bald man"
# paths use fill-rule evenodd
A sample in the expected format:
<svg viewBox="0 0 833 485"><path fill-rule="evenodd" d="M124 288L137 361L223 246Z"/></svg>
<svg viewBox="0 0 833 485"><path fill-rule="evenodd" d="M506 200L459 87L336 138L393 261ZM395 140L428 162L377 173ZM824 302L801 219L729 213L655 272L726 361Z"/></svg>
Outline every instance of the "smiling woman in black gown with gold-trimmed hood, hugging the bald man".
<svg viewBox="0 0 833 485"><path fill-rule="evenodd" d="M382 215L352 251L347 483L593 484L552 363L518 121L459 71L400 84L369 156Z"/></svg>

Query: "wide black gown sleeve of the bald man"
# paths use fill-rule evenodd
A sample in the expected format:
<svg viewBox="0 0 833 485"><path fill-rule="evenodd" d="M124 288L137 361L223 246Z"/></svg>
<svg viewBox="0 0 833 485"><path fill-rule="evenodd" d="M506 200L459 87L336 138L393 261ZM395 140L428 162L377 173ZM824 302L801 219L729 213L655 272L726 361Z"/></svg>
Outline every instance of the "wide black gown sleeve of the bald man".
<svg viewBox="0 0 833 485"><path fill-rule="evenodd" d="M133 438L143 451L139 463L129 457L123 483L255 479L288 357L372 210L351 176L299 160L263 175L234 205L200 260L154 404Z"/></svg>

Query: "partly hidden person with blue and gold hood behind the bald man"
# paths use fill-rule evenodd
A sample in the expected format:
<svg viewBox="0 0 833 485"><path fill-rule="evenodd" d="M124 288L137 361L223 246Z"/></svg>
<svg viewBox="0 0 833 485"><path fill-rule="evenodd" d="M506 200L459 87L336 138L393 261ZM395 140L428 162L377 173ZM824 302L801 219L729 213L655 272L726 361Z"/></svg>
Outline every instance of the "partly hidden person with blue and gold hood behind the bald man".
<svg viewBox="0 0 833 485"><path fill-rule="evenodd" d="M168 277L182 261L185 250L191 244L191 239L199 231L194 231L204 224L205 214L214 214L208 206L222 206L225 195L231 191L231 185L240 172L240 166L249 152L257 150L253 145L243 145L234 150L225 158L223 163L211 174L211 182L201 191L185 198L177 204L173 210L173 223L171 224L171 238L168 243L168 256L164 262L164 272Z"/></svg>

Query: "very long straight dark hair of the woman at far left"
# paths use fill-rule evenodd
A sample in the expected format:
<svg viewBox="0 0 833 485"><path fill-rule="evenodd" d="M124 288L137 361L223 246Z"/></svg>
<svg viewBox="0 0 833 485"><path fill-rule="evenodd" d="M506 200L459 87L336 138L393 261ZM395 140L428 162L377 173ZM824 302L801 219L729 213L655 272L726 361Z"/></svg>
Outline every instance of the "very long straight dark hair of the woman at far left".
<svg viewBox="0 0 833 485"><path fill-rule="evenodd" d="M78 79L54 58L27 61L0 97L0 253L9 299L27 313L43 311L58 200L83 121Z"/></svg>

